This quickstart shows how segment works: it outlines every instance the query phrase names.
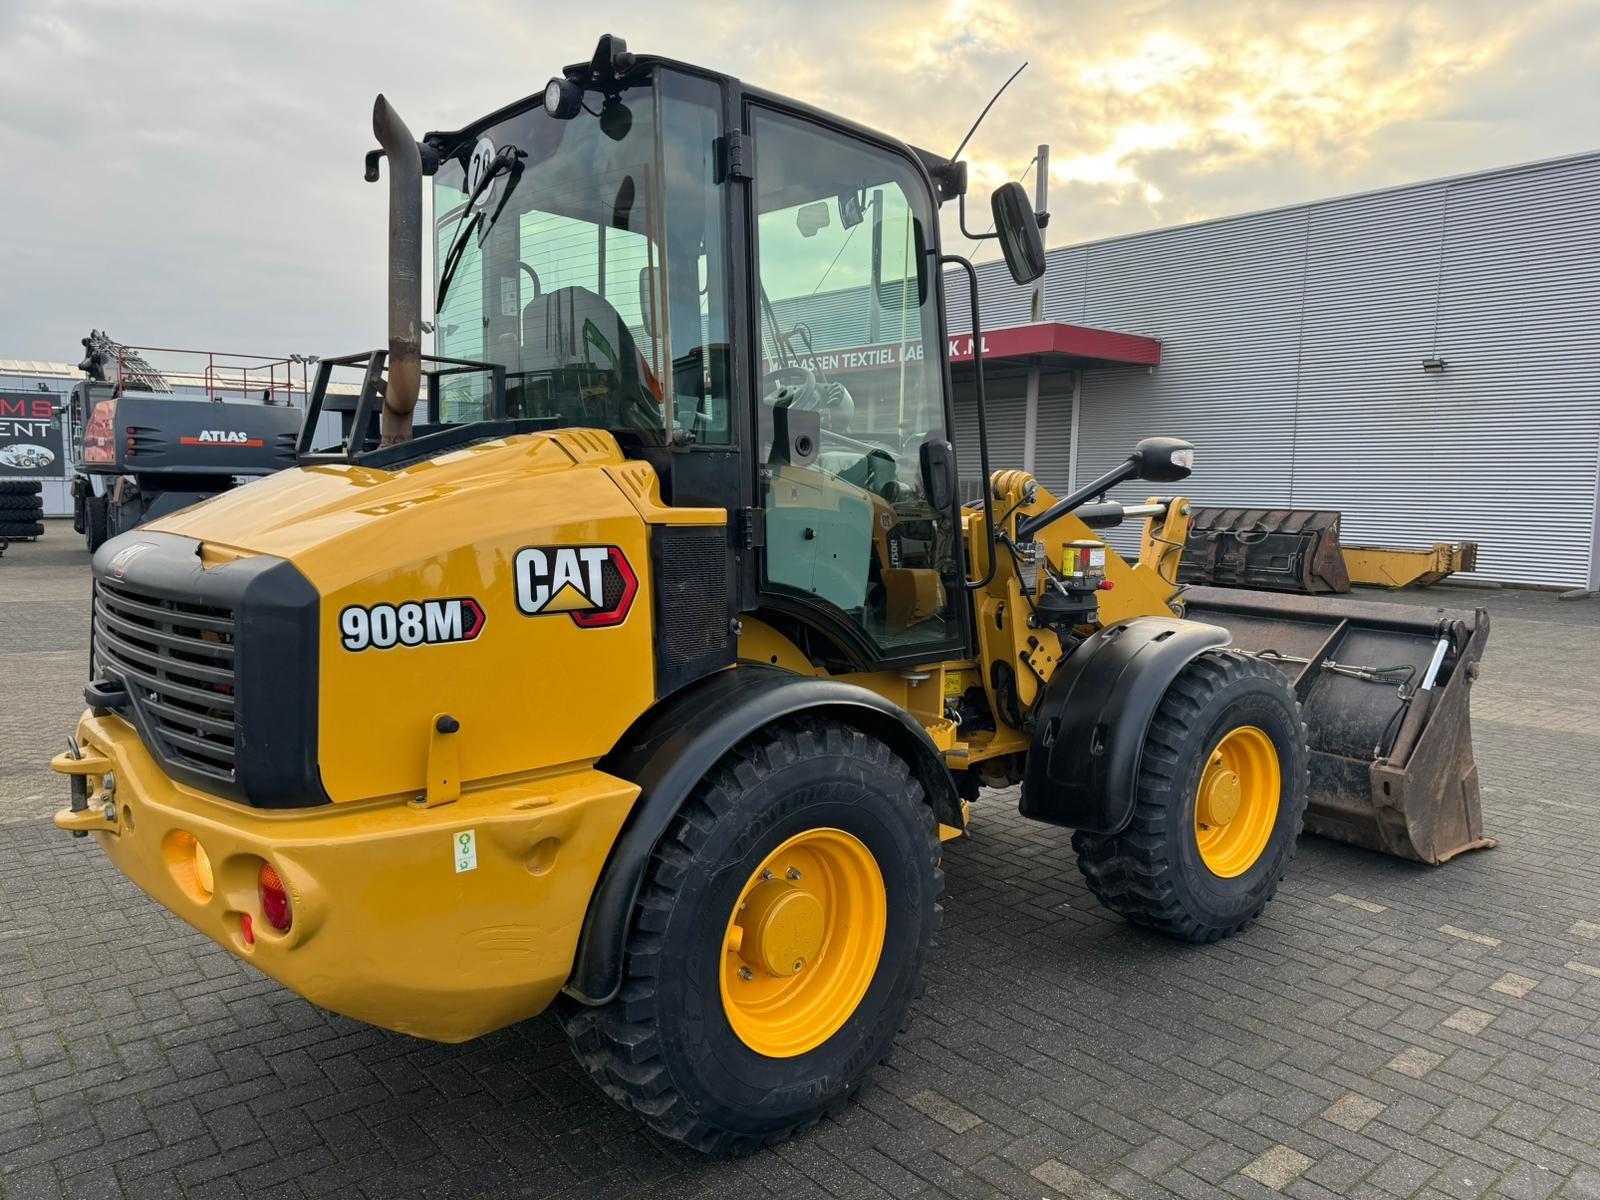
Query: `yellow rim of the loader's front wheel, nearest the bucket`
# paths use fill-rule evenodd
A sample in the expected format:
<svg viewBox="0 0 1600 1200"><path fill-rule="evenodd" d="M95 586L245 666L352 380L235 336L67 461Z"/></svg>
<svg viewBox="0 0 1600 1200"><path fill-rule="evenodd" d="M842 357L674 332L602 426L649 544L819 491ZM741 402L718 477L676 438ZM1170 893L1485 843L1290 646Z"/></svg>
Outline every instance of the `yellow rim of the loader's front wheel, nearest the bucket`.
<svg viewBox="0 0 1600 1200"><path fill-rule="evenodd" d="M1216 744L1195 792L1195 843L1213 875L1250 870L1272 840L1283 773L1278 749L1254 725L1240 725Z"/></svg>

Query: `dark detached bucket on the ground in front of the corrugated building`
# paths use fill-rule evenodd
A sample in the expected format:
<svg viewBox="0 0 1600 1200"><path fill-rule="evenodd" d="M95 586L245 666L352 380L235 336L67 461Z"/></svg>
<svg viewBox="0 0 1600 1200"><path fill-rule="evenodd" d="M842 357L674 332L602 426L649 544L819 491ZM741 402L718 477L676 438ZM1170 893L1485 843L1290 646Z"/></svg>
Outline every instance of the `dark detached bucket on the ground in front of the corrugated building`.
<svg viewBox="0 0 1600 1200"><path fill-rule="evenodd" d="M1181 584L1349 592L1339 514L1325 509L1190 507L1194 525L1178 568Z"/></svg>

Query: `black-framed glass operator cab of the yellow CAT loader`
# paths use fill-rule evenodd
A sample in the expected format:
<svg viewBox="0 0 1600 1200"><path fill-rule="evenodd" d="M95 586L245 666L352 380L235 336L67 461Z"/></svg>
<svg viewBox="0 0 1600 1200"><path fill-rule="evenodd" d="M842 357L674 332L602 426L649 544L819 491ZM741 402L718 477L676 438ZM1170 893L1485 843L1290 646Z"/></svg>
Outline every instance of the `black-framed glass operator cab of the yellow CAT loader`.
<svg viewBox="0 0 1600 1200"><path fill-rule="evenodd" d="M430 421L611 432L666 502L728 510L728 619L821 661L971 653L950 163L611 37L421 146L437 354L496 368L430 381Z"/></svg>

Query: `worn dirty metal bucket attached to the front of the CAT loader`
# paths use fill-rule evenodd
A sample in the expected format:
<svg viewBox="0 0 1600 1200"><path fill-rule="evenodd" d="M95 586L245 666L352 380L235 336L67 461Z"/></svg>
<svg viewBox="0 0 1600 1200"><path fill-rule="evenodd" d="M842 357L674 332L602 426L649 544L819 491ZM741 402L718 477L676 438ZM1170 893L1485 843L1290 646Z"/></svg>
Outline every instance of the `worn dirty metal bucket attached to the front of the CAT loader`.
<svg viewBox="0 0 1600 1200"><path fill-rule="evenodd" d="M1182 594L1294 685L1310 744L1306 829L1438 864L1483 837L1470 694L1488 613L1226 587Z"/></svg>

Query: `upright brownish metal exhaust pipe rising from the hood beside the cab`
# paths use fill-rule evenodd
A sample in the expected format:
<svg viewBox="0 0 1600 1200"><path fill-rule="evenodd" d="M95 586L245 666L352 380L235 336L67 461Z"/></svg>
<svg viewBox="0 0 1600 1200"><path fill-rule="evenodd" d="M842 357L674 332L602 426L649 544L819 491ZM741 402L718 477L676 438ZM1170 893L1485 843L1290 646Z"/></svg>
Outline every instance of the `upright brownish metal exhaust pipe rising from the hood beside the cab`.
<svg viewBox="0 0 1600 1200"><path fill-rule="evenodd" d="M422 152L389 101L373 102L373 134L389 158L389 381L379 445L411 440L422 387ZM376 179L368 158L368 178Z"/></svg>

